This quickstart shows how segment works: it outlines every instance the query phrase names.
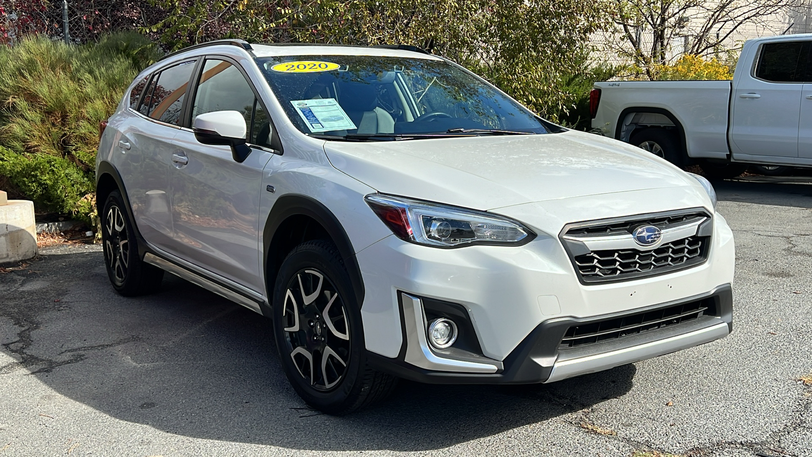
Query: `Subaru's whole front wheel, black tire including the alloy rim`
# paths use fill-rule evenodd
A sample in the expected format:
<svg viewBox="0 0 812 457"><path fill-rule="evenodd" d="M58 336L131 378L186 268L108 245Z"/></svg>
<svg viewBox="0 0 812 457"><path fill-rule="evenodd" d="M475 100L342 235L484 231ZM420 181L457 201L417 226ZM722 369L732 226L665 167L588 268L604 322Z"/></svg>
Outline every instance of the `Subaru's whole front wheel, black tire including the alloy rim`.
<svg viewBox="0 0 812 457"><path fill-rule="evenodd" d="M344 415L391 393L397 378L367 364L361 307L333 243L296 246L279 268L273 302L279 359L305 403Z"/></svg>

